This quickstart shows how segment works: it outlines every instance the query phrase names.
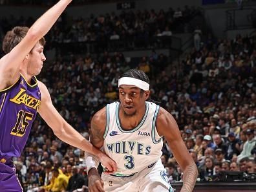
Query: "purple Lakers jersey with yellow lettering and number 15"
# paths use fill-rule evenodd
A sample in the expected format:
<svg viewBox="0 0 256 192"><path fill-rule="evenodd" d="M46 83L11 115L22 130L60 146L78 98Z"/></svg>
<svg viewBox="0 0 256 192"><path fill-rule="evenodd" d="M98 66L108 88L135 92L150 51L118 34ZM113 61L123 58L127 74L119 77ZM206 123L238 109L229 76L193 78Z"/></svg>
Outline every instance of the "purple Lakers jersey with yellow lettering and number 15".
<svg viewBox="0 0 256 192"><path fill-rule="evenodd" d="M0 91L0 156L21 155L40 103L36 77L29 84L20 76L14 85Z"/></svg>

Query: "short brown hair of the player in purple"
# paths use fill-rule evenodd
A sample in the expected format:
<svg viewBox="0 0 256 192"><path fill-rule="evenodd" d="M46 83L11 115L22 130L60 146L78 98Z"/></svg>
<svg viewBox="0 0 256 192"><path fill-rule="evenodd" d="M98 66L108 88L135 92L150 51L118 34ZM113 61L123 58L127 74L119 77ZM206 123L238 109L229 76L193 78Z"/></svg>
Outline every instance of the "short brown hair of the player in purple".
<svg viewBox="0 0 256 192"><path fill-rule="evenodd" d="M21 40L27 35L29 28L28 27L14 27L12 30L9 30L4 39L3 39L3 51L5 54L8 54L16 45L21 42ZM41 37L39 43L42 46L45 46L45 38Z"/></svg>

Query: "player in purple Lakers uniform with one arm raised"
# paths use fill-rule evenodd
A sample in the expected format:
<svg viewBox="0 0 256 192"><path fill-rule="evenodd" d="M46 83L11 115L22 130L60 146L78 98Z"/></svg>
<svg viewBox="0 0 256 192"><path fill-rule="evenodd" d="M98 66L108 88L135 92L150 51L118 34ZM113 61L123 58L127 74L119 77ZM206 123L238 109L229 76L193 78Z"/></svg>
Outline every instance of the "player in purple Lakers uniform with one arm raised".
<svg viewBox="0 0 256 192"><path fill-rule="evenodd" d="M109 171L116 170L111 158L61 117L52 105L47 87L36 79L46 59L43 36L71 1L59 1L32 27L15 27L3 40L6 55L0 59L0 191L23 191L12 158L21 155L37 112L59 139L98 156Z"/></svg>

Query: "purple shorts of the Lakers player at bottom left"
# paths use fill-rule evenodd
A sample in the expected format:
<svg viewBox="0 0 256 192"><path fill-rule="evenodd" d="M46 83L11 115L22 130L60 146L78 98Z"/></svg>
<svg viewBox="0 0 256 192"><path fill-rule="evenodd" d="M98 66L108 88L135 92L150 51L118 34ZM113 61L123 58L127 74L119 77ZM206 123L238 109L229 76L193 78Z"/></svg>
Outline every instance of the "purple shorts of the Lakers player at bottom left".
<svg viewBox="0 0 256 192"><path fill-rule="evenodd" d="M0 191L22 192L23 189L16 175L16 168L12 162L0 162Z"/></svg>

